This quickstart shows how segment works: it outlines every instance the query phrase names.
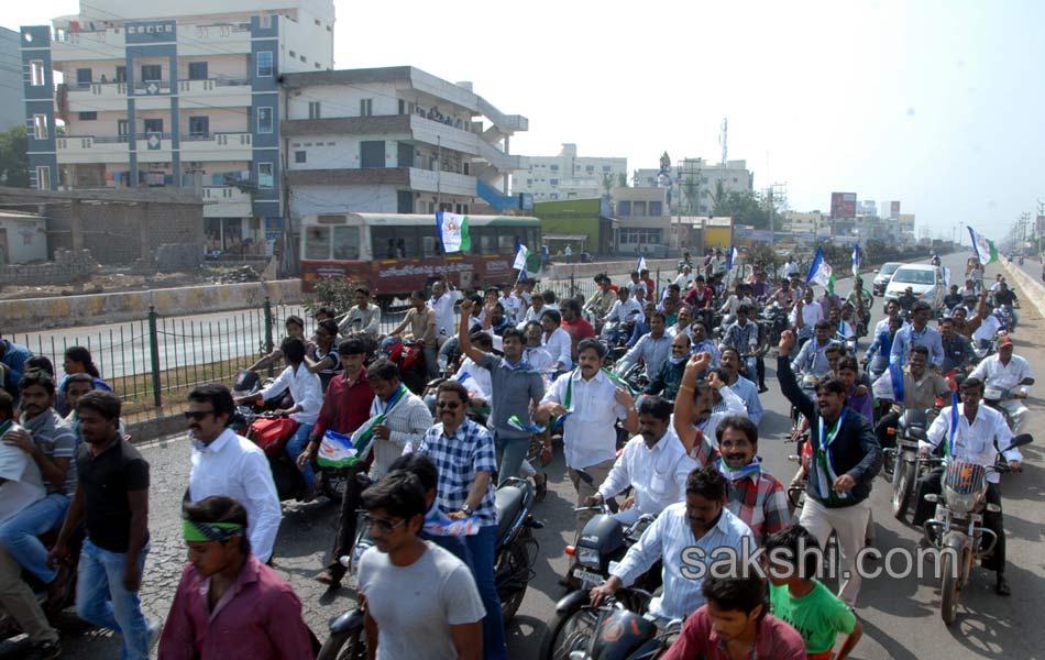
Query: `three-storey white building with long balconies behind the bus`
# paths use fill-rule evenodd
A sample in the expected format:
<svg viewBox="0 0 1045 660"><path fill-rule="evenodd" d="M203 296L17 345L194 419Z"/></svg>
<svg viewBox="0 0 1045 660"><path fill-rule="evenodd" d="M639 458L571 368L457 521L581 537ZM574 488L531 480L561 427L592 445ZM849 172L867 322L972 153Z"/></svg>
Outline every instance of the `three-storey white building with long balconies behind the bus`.
<svg viewBox="0 0 1045 660"><path fill-rule="evenodd" d="M519 208L510 138L529 122L410 66L284 76L293 218L331 209L460 213Z"/></svg>

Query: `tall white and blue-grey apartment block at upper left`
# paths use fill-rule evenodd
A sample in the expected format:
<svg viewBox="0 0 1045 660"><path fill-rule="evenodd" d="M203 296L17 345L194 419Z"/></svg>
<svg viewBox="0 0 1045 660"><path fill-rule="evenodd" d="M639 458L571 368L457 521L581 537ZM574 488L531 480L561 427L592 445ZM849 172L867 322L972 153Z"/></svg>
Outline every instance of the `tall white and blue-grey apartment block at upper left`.
<svg viewBox="0 0 1045 660"><path fill-rule="evenodd" d="M194 188L209 248L261 252L283 228L279 78L333 67L333 22L332 0L90 0L22 28L32 185Z"/></svg>

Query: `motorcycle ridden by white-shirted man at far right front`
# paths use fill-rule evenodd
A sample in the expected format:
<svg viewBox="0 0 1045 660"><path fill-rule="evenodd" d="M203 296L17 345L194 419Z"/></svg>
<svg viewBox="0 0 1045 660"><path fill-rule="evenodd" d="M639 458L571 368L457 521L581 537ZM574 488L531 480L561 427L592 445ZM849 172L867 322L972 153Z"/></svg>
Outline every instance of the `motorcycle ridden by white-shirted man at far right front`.
<svg viewBox="0 0 1045 660"><path fill-rule="evenodd" d="M1027 433L1016 436L1007 450L1032 441L1033 438ZM976 463L952 461L941 482L943 492L939 495L925 495L926 502L936 504L936 515L925 521L923 531L928 543L942 551L939 614L948 626L957 618L958 597L969 583L972 564L989 556L998 542L997 535L982 525L983 510L1001 510L994 504L987 504L989 472L1009 472L1009 465L999 461L991 468L985 468Z"/></svg>

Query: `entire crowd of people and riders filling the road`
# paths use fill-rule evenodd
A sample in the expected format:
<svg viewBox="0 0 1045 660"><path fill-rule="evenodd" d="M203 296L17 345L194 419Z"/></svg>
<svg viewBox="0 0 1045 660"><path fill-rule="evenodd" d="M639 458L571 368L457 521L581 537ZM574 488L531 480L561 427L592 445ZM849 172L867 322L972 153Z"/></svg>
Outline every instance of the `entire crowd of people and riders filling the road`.
<svg viewBox="0 0 1045 660"><path fill-rule="evenodd" d="M86 349L66 352L56 381L50 362L0 338L0 608L29 636L32 658L61 656L48 615L68 603L74 581L77 615L118 631L123 658L147 658L157 644L160 658L314 657L301 604L272 569L282 514L270 462L230 427L238 406L278 402L274 414L297 422L286 451L306 485L300 499L319 495L316 460L328 433L350 437L365 459L342 469L339 529L316 579L342 583L340 559L365 525L374 547L355 582L372 658L507 657L495 492L522 477L542 501L542 469L560 443L576 537L593 507L610 501L623 498L614 507L622 525L654 518L591 590L593 606L653 571L663 590L641 614L684 622L666 658L845 658L861 636L855 558L873 541L869 495L900 413L943 397L922 452L945 444L949 457L982 465L1026 421L1034 376L998 334L994 312L1016 300L1001 280L977 290L970 279L941 310L889 300L869 328L872 298L859 278L843 299L815 290L790 258L779 278L756 268L737 280L724 263L721 253L703 263L685 254L664 283L648 271L620 284L600 275L587 299L558 299L526 279L465 296L440 280L411 295L387 336L365 286L351 309L316 310L311 338L288 317L279 348L251 365L284 364L271 383L237 397L219 383L188 395L188 562L163 625L145 617L138 595L150 466L127 436L120 398ZM768 308L787 318L779 337L762 319ZM861 334L862 359L851 350ZM427 392L410 391L387 359L402 339L422 346L436 380ZM771 348L794 437L807 438L810 460L792 479L759 458ZM968 376L960 400L950 398L955 375ZM988 388L1011 393L1000 410L981 404ZM1003 454L1019 471L1019 450ZM916 526L934 515L924 496L939 492L941 474L919 483ZM799 483L801 513L788 497ZM998 510L983 521L999 539L987 565L1007 595L997 483L987 496ZM837 594L799 552L826 548L831 536L845 571ZM758 547L780 550L765 575L694 570L723 549ZM566 588L584 584L575 569L561 576Z"/></svg>

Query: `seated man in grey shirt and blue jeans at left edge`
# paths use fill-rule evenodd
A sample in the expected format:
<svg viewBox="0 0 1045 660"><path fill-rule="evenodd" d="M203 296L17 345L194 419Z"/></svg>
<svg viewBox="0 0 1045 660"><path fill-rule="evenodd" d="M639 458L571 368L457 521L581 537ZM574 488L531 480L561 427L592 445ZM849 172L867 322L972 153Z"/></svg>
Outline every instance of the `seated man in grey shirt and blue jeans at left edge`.
<svg viewBox="0 0 1045 660"><path fill-rule="evenodd" d="M68 568L47 565L47 549L40 535L56 529L76 493L76 433L54 409L55 384L46 373L30 370L19 381L22 418L3 442L30 457L44 479L47 495L11 515L0 525L0 546L43 584L48 601L61 600L69 579Z"/></svg>

